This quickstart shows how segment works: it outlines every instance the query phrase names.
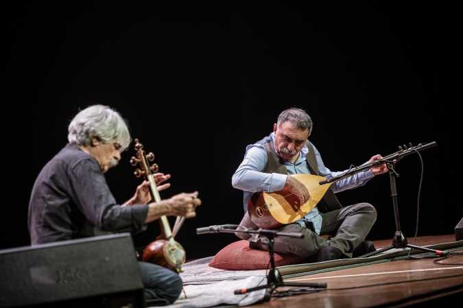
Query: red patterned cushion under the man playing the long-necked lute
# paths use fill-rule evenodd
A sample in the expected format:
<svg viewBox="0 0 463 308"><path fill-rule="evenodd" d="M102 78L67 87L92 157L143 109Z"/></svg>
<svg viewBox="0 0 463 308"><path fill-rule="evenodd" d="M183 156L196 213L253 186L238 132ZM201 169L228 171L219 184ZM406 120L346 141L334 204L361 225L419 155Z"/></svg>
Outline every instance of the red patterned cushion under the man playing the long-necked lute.
<svg viewBox="0 0 463 308"><path fill-rule="evenodd" d="M275 252L275 265L300 263L303 257L296 254L281 254ZM213 268L221 270L265 270L270 268L268 251L249 248L249 241L235 241L228 244L215 254L209 263Z"/></svg>

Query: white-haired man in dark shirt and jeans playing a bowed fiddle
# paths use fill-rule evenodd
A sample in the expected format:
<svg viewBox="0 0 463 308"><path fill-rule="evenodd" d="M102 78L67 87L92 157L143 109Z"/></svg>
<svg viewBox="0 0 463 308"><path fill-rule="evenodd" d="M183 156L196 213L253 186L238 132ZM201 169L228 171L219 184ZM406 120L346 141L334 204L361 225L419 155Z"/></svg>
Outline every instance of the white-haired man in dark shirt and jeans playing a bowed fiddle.
<svg viewBox="0 0 463 308"><path fill-rule="evenodd" d="M163 215L195 216L195 206L201 203L198 192L151 202L148 181L126 203L116 202L104 174L119 163L130 144L119 112L102 105L80 111L69 124L68 140L34 183L28 219L32 245L107 232L136 233ZM154 174L157 184L169 177ZM159 190L167 187L168 183ZM182 290L180 276L152 263L139 266L147 305L174 303Z"/></svg>

